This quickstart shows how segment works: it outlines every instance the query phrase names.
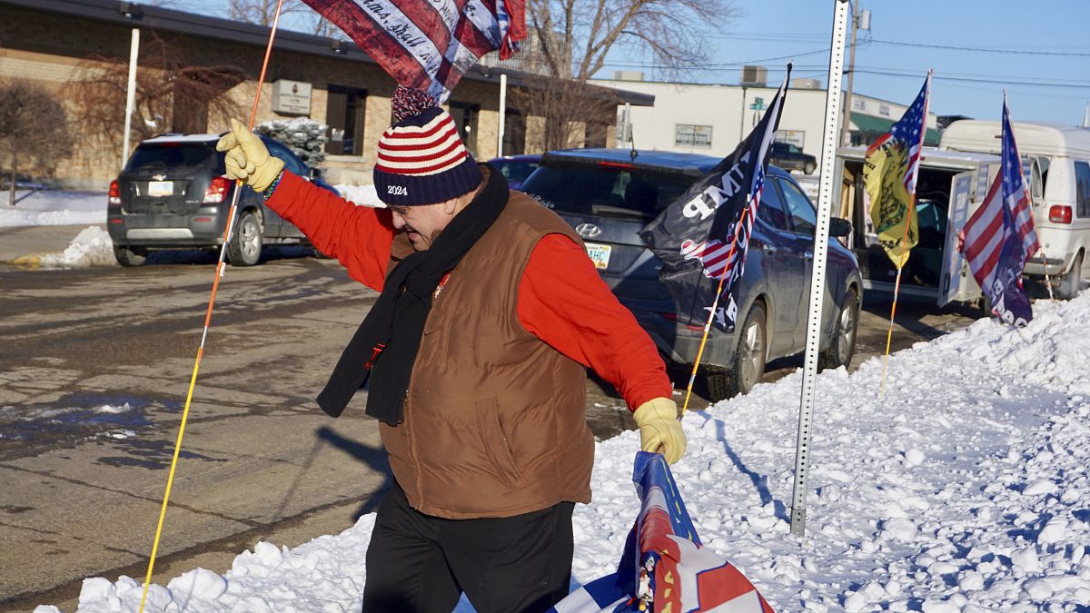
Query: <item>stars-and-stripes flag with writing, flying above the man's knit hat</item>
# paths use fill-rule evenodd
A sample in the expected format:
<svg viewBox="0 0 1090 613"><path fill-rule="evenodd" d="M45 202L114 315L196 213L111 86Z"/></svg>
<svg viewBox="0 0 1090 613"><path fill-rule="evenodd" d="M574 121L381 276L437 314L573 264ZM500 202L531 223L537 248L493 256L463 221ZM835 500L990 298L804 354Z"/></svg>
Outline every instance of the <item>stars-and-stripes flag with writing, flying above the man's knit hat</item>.
<svg viewBox="0 0 1090 613"><path fill-rule="evenodd" d="M518 51L525 0L303 0L344 31L399 85L444 103L477 58Z"/></svg>

